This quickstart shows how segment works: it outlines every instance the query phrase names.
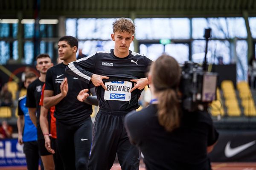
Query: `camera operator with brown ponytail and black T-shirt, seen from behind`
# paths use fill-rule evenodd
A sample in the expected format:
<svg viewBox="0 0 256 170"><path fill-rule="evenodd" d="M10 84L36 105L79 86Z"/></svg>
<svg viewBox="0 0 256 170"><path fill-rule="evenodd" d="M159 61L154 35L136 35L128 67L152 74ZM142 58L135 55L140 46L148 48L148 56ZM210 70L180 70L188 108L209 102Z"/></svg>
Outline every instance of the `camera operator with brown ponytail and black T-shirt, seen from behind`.
<svg viewBox="0 0 256 170"><path fill-rule="evenodd" d="M136 144L147 170L210 170L207 153L218 139L207 111L188 112L179 96L180 66L160 56L151 66L151 105L125 117L130 142Z"/></svg>

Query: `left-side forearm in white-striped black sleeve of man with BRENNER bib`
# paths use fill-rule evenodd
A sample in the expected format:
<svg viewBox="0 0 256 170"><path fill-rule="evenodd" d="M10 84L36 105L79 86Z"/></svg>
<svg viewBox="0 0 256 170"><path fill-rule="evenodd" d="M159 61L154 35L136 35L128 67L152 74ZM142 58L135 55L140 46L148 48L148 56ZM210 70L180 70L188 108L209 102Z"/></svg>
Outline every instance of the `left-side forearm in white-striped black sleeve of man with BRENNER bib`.
<svg viewBox="0 0 256 170"><path fill-rule="evenodd" d="M71 74L73 77L80 79L89 84L93 73L81 68L78 62L71 62L67 65L65 72Z"/></svg>

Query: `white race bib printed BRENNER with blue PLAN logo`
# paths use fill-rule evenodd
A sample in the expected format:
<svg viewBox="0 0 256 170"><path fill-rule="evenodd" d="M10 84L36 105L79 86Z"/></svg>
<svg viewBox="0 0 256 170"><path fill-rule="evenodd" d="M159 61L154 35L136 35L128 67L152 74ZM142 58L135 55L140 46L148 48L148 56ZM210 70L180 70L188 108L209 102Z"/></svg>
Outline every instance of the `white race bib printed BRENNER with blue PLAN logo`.
<svg viewBox="0 0 256 170"><path fill-rule="evenodd" d="M128 81L112 81L105 83L108 91L104 93L105 100L119 100L130 101L131 100L131 86L132 82Z"/></svg>

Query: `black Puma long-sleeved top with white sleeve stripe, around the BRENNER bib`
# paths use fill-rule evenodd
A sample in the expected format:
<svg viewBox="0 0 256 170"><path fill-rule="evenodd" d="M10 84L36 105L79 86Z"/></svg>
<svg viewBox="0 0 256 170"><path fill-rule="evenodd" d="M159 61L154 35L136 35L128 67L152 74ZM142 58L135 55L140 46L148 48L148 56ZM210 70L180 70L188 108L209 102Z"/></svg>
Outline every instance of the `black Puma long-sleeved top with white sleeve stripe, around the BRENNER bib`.
<svg viewBox="0 0 256 170"><path fill-rule="evenodd" d="M70 62L66 67L66 72L87 83L90 82L93 74L110 77L110 79L103 79L108 91L105 91L102 86L96 87L99 108L117 113L129 112L139 108L138 99L143 91L135 89L129 94L129 90L134 87L134 83L130 83L130 79L145 78L151 62L152 60L148 57L132 51L127 57L119 58L111 49L97 51L88 57ZM110 83L110 85L106 85L106 83ZM129 83L131 87L119 86ZM109 92L108 96L106 92Z"/></svg>

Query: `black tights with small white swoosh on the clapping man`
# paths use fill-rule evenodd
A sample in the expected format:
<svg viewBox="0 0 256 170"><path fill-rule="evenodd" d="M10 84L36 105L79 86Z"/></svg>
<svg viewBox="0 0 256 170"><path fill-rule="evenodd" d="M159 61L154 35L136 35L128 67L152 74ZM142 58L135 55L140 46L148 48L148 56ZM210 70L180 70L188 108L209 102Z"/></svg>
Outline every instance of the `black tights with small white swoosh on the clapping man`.
<svg viewBox="0 0 256 170"><path fill-rule="evenodd" d="M87 170L92 143L90 116L74 125L56 119L56 130L64 170Z"/></svg>

